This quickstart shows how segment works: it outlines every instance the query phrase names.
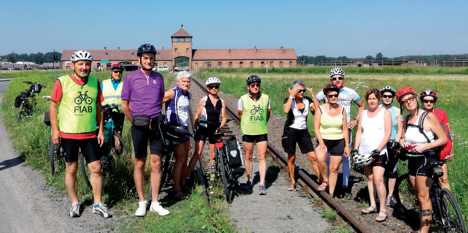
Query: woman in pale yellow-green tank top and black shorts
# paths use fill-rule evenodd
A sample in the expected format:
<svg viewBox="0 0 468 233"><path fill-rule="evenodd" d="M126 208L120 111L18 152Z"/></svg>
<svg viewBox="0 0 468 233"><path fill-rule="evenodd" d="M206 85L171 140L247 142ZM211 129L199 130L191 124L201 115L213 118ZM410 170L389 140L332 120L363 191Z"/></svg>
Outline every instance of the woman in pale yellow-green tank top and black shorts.
<svg viewBox="0 0 468 233"><path fill-rule="evenodd" d="M325 191L329 187L330 196L333 196L335 191L341 157L350 155L346 110L337 104L339 92L340 88L334 83L323 87L327 103L319 106L319 111L315 111L314 116L315 136L318 141L315 153L321 182L317 190ZM328 152L330 152L330 174L326 163Z"/></svg>

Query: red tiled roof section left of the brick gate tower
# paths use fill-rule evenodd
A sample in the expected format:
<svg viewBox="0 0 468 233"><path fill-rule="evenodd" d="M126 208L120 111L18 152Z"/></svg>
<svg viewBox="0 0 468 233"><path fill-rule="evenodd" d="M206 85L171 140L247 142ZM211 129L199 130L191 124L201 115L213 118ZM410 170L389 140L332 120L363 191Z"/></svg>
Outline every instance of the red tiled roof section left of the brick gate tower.
<svg viewBox="0 0 468 233"><path fill-rule="evenodd" d="M69 61L71 54L78 50L64 49L62 52L62 61ZM138 60L136 49L86 49L93 55L94 60ZM156 49L159 55L158 60L172 60L171 49ZM108 55L106 55L106 53ZM134 53L134 55L132 55Z"/></svg>

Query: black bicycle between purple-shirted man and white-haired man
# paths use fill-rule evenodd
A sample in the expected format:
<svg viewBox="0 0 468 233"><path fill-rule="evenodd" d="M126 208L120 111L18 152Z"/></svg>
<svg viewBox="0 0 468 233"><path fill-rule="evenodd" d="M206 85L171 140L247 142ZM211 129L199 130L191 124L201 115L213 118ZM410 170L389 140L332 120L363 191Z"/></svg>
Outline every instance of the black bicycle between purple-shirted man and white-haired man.
<svg viewBox="0 0 468 233"><path fill-rule="evenodd" d="M186 135L191 137L194 134L187 131L187 128L180 125L173 125L171 123L165 124L166 116L164 114L159 115L157 118L156 125L158 129L162 132L161 137L164 140L164 147L163 147L163 156L161 158L161 184L159 185L158 193L161 193L163 186L169 186L172 184L172 169L174 168L174 164L176 162L176 158L174 157L174 152L171 149L171 141L176 142L183 142ZM152 195L151 195L151 182L148 188L148 202L151 203Z"/></svg>

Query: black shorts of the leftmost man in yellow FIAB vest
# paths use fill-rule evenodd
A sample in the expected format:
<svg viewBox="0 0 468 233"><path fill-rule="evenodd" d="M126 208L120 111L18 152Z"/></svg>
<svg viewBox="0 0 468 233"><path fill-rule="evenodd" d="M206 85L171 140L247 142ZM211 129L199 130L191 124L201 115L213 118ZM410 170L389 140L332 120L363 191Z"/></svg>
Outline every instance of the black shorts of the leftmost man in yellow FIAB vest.
<svg viewBox="0 0 468 233"><path fill-rule="evenodd" d="M78 161L78 152L86 159L86 163L101 160L101 150L97 144L97 138L88 139L69 139L62 138L62 147L65 150L65 162L71 163Z"/></svg>

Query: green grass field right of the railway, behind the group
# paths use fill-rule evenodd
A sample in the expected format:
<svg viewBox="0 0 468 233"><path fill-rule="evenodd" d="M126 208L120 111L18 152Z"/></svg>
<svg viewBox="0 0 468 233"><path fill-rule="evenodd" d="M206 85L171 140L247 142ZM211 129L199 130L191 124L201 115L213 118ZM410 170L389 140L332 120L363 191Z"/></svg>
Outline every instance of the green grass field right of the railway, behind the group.
<svg viewBox="0 0 468 233"><path fill-rule="evenodd" d="M321 67L317 67L321 68ZM407 67L403 67L407 68ZM447 68L447 67L446 67ZM410 68L412 69L412 68ZM414 68L413 68L414 69ZM426 69L426 68L425 68ZM427 67L427 69L434 69L433 67ZM466 69L466 68L464 68ZM346 68L348 73L349 67ZM405 70L405 69L403 69ZM201 77L205 81L206 77L210 77L212 74L216 75L221 79L221 91L228 94L234 94L235 97L240 97L247 93L247 87L245 85L245 79L248 74L217 74L210 73L209 70L202 70L197 72L197 77ZM326 83L329 82L328 71L323 72L323 78L317 78L316 75L304 75L303 81L307 87L313 87L315 94L321 90ZM269 69L268 69L269 72ZM435 70L434 72L438 72ZM463 71L465 72L465 71ZM294 79L283 78L276 79L270 78L270 75L262 74L260 78L268 77L261 83L261 92L267 94L271 99L272 113L278 114L285 117L286 115L282 112L283 101L289 96L288 87L291 87ZM273 74L271 76L274 76ZM368 89L376 88L380 89L383 86L392 86L396 90L402 87L412 87L418 93L431 89L439 96L436 108L442 109L447 112L450 119L450 127L454 134L454 154L455 158L453 161L448 162L449 167L449 182L457 201L463 211L465 220L468 220L468 130L467 130L467 116L468 116L468 81L464 80L449 80L449 79L437 79L433 76L407 76L405 79L397 79L397 75L387 75L387 79L369 79L366 76L359 76L360 78L346 78L345 86L350 87L361 96L364 100L364 94ZM306 93L306 96L309 94ZM396 101L393 103L394 106L400 107ZM421 107L421 103L420 103ZM409 114L407 111L403 111L403 115ZM356 105L353 105L351 116L356 116ZM309 131L313 133L313 117L308 117ZM355 130L354 130L355 131ZM355 135L355 133L353 133ZM353 140L354 141L354 140ZM399 166L401 172L406 172L406 163L401 163Z"/></svg>

